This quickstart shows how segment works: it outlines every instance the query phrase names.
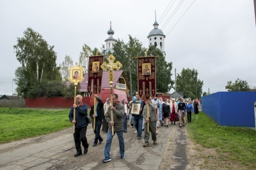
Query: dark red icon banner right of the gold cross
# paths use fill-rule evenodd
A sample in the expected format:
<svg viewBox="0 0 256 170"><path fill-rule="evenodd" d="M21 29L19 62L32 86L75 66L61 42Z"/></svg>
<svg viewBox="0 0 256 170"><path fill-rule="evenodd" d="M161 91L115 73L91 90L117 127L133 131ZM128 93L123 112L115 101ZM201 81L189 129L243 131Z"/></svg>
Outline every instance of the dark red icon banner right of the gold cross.
<svg viewBox="0 0 256 170"><path fill-rule="evenodd" d="M138 94L146 99L156 95L156 57L138 57Z"/></svg>

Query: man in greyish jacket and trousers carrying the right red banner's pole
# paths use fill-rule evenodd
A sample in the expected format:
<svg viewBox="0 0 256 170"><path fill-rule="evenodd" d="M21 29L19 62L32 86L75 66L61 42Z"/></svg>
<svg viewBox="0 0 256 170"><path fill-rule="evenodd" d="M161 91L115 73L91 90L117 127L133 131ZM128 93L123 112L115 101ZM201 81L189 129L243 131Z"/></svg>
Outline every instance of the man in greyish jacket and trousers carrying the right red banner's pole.
<svg viewBox="0 0 256 170"><path fill-rule="evenodd" d="M152 103L151 97L149 99L147 99L147 103L148 103L149 120L147 120L147 105L144 106L142 115L143 115L145 122L149 122L149 131L151 132L152 141L153 141L153 144L156 145L156 122L158 120L158 118L156 117L157 104ZM145 127L147 127L147 124L145 124ZM150 134L149 134L147 128L145 128L144 132L145 132L144 133L145 144L143 145L143 147L147 147L147 146L149 146L148 141L150 138Z"/></svg>

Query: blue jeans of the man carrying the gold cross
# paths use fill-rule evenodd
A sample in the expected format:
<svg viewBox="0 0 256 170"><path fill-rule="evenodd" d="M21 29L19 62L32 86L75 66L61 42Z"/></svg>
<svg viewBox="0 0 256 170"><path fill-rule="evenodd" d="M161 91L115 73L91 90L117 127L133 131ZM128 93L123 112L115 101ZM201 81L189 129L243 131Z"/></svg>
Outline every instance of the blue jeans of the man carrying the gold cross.
<svg viewBox="0 0 256 170"><path fill-rule="evenodd" d="M123 136L123 131L114 132L114 136L115 136L115 133L117 134L118 141L119 141L120 156L124 157L124 136ZM112 136L112 131L108 130L106 146L105 146L105 149L104 149L104 157L107 158L107 159L110 159L109 152L110 152L110 149L111 149L111 143L112 143L112 139L113 139L114 136Z"/></svg>

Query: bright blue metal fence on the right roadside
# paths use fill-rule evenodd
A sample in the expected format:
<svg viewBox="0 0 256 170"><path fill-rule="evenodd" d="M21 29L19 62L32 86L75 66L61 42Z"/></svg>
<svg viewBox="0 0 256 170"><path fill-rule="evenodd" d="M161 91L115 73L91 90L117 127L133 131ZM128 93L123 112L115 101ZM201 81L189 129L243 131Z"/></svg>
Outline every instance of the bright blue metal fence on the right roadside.
<svg viewBox="0 0 256 170"><path fill-rule="evenodd" d="M218 125L255 127L256 92L217 92L202 97L202 111Z"/></svg>

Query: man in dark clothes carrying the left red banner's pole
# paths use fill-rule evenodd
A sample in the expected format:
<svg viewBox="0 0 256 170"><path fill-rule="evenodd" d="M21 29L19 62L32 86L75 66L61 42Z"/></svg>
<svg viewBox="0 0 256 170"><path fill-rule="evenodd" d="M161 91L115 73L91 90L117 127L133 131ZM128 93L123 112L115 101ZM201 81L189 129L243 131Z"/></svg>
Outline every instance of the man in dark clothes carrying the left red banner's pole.
<svg viewBox="0 0 256 170"><path fill-rule="evenodd" d="M103 139L100 136L100 127L102 125L102 120L104 117L104 103L102 102L102 100L100 99L100 97L97 96L97 94L94 94L94 97L96 98L96 111L95 111L95 115L93 115L94 113L94 104L91 107L90 110L90 117L95 118L95 138L94 138L94 142L92 146L96 146L98 141L99 144L102 143ZM93 127L93 122L92 122L92 127Z"/></svg>

